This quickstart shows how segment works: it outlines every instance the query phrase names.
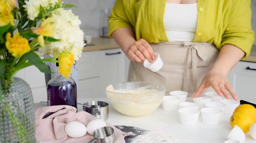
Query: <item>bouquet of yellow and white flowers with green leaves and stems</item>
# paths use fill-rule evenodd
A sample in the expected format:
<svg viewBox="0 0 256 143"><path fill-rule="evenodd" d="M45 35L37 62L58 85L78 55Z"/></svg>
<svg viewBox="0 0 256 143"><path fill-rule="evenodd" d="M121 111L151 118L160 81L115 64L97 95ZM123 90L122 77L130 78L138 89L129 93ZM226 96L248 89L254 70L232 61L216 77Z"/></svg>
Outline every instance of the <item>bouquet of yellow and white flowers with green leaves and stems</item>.
<svg viewBox="0 0 256 143"><path fill-rule="evenodd" d="M20 111L14 111L8 98L15 74L32 65L51 73L45 62L57 62L59 72L68 77L81 56L84 34L78 16L67 10L71 7L61 0L0 0L0 104L13 124L16 142L34 141L26 137L26 126L14 113ZM40 58L38 52L50 58Z"/></svg>

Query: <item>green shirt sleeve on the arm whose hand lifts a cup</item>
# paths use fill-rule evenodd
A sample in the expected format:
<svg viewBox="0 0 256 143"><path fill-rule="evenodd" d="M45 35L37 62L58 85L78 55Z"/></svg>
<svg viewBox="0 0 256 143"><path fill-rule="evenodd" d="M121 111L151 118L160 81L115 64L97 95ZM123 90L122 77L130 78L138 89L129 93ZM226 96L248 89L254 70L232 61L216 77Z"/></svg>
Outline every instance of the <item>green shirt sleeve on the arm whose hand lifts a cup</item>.
<svg viewBox="0 0 256 143"><path fill-rule="evenodd" d="M124 1L126 2L126 1ZM126 2L129 3L129 2ZM116 4L109 16L109 36L112 37L112 33L121 27L133 28L123 5L123 0L116 0Z"/></svg>

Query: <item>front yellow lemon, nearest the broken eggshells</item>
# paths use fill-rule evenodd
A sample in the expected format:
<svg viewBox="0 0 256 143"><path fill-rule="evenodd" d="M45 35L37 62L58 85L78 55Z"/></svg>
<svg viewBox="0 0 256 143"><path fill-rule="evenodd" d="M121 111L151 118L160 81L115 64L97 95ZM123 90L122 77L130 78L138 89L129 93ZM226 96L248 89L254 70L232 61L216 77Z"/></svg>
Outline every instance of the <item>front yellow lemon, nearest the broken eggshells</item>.
<svg viewBox="0 0 256 143"><path fill-rule="evenodd" d="M236 111L230 117L229 123L231 127L233 127L234 125L239 126L244 131L244 133L246 133L249 131L251 125L254 123L254 120L251 116L248 116L246 113Z"/></svg>

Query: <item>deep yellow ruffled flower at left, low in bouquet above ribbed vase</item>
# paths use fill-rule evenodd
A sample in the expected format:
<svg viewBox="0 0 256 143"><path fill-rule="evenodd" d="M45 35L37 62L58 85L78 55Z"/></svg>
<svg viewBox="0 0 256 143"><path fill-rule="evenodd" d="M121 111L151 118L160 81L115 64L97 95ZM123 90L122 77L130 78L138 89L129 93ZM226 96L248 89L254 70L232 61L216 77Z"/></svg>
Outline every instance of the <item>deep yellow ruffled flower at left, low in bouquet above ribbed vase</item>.
<svg viewBox="0 0 256 143"><path fill-rule="evenodd" d="M11 34L6 34L6 48L12 54L12 56L20 57L26 52L30 51L29 42L26 38L20 37L18 33L16 33L13 38L11 38Z"/></svg>

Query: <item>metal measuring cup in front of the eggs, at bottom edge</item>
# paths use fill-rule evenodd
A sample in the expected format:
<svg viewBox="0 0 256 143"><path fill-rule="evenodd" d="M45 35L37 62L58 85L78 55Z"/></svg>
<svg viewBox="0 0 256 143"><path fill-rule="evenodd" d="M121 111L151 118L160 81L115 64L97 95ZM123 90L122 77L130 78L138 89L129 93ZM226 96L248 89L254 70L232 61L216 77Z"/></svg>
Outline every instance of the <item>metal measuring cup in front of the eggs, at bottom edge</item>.
<svg viewBox="0 0 256 143"><path fill-rule="evenodd" d="M93 132L93 139L87 143L113 143L116 140L115 132L112 127L101 127Z"/></svg>

